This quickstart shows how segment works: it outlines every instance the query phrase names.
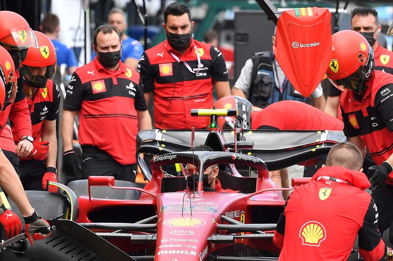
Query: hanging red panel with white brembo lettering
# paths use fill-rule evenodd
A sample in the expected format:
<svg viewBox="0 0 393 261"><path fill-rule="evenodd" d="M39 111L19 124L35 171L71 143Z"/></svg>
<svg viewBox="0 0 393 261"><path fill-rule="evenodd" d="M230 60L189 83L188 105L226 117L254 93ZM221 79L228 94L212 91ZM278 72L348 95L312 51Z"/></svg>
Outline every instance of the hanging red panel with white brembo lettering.
<svg viewBox="0 0 393 261"><path fill-rule="evenodd" d="M308 97L332 57L331 13L327 8L295 8L282 13L273 52L288 80Z"/></svg>

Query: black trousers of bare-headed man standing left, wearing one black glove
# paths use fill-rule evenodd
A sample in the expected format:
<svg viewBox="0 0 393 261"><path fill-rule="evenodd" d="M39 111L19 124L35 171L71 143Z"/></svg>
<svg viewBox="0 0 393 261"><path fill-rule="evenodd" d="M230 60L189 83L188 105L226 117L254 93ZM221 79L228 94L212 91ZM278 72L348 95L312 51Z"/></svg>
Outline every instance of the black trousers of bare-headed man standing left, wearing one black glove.
<svg viewBox="0 0 393 261"><path fill-rule="evenodd" d="M116 180L135 182L137 163L122 165L94 146L84 145L82 151L82 179L88 176L114 176Z"/></svg>

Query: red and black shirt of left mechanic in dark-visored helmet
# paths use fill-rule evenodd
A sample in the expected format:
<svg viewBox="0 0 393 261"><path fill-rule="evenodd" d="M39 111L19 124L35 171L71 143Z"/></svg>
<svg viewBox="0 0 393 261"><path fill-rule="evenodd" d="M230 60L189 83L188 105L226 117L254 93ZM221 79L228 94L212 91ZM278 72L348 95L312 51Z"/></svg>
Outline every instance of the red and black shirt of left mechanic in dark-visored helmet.
<svg viewBox="0 0 393 261"><path fill-rule="evenodd" d="M31 92L32 98L27 97L28 108L30 111L32 137L34 140L41 139L41 129L44 120L57 119L58 106L60 103L60 89L52 81L48 80L44 88L32 88L25 83L24 88ZM16 129L11 121L11 129L15 142L20 141L16 135Z"/></svg>

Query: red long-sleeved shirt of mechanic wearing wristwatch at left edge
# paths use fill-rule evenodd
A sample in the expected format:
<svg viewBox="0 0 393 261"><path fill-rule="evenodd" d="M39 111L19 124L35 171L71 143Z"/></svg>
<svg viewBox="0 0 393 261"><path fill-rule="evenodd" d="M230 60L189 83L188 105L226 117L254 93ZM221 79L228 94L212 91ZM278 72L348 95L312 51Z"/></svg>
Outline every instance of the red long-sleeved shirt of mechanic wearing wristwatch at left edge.
<svg viewBox="0 0 393 261"><path fill-rule="evenodd" d="M11 133L11 128L6 125L10 119L15 126L14 136L20 140L23 136L32 136L30 113L23 90L23 78L19 77L20 70L16 71L18 76L18 90L13 103L7 103L0 112L0 147L3 150L15 152L16 146Z"/></svg>

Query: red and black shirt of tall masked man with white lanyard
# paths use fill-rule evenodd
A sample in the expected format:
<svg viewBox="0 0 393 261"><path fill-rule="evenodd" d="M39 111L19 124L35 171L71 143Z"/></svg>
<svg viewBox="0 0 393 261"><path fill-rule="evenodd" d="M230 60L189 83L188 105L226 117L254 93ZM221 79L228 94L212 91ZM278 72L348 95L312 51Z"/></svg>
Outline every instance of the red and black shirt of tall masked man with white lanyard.
<svg viewBox="0 0 393 261"><path fill-rule="evenodd" d="M146 50L138 68L144 92L154 94L154 124L160 129L206 128L206 119L191 117L191 109L211 108L214 82L228 81L222 52L194 39L183 55L167 40Z"/></svg>

